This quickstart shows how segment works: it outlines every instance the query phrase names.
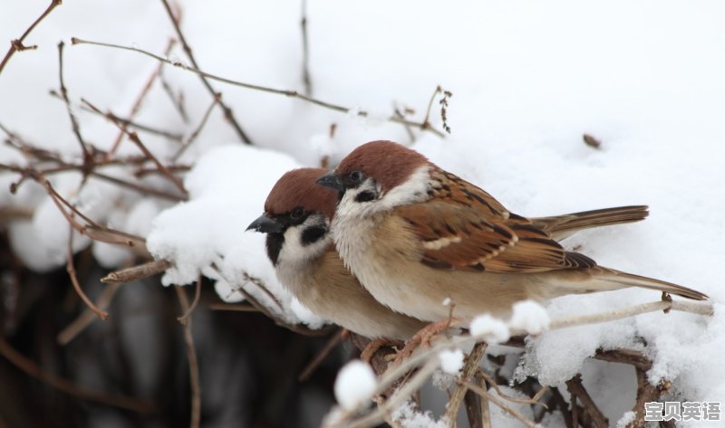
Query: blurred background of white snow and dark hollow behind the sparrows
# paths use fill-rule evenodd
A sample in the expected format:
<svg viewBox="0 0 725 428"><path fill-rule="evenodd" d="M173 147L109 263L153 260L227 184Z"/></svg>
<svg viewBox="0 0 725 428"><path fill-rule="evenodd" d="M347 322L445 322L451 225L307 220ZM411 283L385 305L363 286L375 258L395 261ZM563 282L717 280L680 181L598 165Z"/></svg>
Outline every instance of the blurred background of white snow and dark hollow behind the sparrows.
<svg viewBox="0 0 725 428"><path fill-rule="evenodd" d="M48 4L2 0L0 41L18 38ZM520 364L516 356L507 358L503 371L519 380L534 376L563 391L565 381L581 373L594 402L616 425L628 421L626 413L633 408L634 370L587 357L602 347L636 348L653 361L653 384L672 382L663 400L725 402L721 2L307 0L303 7L299 2L211 0L172 6L203 71L300 93L305 91L304 11L310 94L351 109L340 113L211 81L253 146L242 142L216 105L198 136L172 161L199 128L213 98L198 76L167 65L152 80L133 121L179 138L133 129L162 163L180 166L174 172L183 179L188 202L180 202L178 187L163 174L134 178L139 166L102 166L96 172L129 178L166 197L99 176L82 182L77 170L47 174L53 188L93 221L148 238L156 258L174 263L163 276L165 284L190 284L199 273L207 278L191 328L203 426L318 426L333 404L332 381L353 352L349 345L300 383L296 376L326 339L291 333L259 314L208 308L220 299L242 300L234 291L239 286L273 307L249 283L251 276L281 300L283 309L275 311L279 319L319 327L319 320L276 283L263 236L244 230L261 214L267 192L286 170L325 161L334 166L372 139L411 145L517 214L649 204L651 215L643 223L579 233L565 245L605 266L706 292L715 304L714 317L660 312L546 333L529 342ZM191 62L180 43L165 53L177 34L160 1L66 1L53 10L24 41L38 49L16 52L0 73L0 125L15 134L15 146L21 141L51 151L56 160L80 164L82 150L63 100L49 95L60 90L56 45L65 42L63 76L82 138L101 150L111 150L119 128L88 111L82 99L129 118L159 62L138 52L72 45L72 37ZM420 123L438 85L452 92L451 133L445 138L386 119L398 110ZM442 130L439 100L440 94L430 110L437 131ZM367 118L355 114L361 110L369 112ZM599 147L585 144L584 134L598 140ZM5 132L2 137L13 139ZM120 140L115 156L142 155L128 138ZM0 426L189 423L189 369L175 319L183 310L158 277L121 286L114 291L107 321L95 320L71 334L70 343L59 343L58 335L69 334L69 326L88 322L82 321L85 307L64 272L67 220L32 177L14 195L10 192L20 173L6 166L58 165L34 163L35 155L8 144L0 147ZM77 233L73 250L82 287L92 300L111 299L100 277L142 261L138 253ZM187 290L191 296L192 289ZM659 297L624 290L556 300L548 309L556 318ZM75 385L133 396L154 410L117 410L33 383L8 362L12 348ZM532 415L530 406L523 407ZM498 410L493 417L496 428L519 426ZM433 419L414 426L436 426ZM547 414L542 423L565 426L558 413ZM678 423L701 425L716 426Z"/></svg>

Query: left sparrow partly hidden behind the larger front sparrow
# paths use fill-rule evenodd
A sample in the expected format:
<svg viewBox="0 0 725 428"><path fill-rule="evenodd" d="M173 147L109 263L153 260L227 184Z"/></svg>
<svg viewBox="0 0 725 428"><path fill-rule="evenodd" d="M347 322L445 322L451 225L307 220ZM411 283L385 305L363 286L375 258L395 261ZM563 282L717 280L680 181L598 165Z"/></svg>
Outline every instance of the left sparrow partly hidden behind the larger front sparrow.
<svg viewBox="0 0 725 428"><path fill-rule="evenodd" d="M375 300L335 251L330 222L337 194L315 184L326 171L287 172L267 196L265 213L247 230L266 233L277 278L315 315L366 338L411 338L427 323Z"/></svg>

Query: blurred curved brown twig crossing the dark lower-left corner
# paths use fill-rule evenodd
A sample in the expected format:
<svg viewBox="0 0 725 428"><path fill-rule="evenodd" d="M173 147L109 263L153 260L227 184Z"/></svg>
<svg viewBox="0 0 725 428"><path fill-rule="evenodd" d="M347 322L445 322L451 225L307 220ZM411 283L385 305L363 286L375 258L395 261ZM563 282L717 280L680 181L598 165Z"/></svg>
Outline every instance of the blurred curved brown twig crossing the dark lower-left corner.
<svg viewBox="0 0 725 428"><path fill-rule="evenodd" d="M130 410L131 412L150 413L154 410L151 404L140 401L136 398L88 391L87 389L83 389L82 387L75 385L73 382L65 380L62 377L46 372L41 366L38 366L34 363L34 361L24 357L23 354L19 353L14 349L14 347L10 346L10 344L7 343L5 338L2 336L0 336L0 355L5 357L10 364L16 366L28 376L34 377L40 382L43 382L43 384L49 385L53 389L65 394L73 395L82 400L93 403L101 403Z"/></svg>

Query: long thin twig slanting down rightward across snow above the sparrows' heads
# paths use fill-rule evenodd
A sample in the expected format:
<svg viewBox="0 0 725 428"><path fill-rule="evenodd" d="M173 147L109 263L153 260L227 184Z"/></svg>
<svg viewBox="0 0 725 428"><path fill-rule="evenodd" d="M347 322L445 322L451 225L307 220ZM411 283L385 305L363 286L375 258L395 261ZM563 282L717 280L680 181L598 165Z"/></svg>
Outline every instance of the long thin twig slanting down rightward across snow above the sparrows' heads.
<svg viewBox="0 0 725 428"><path fill-rule="evenodd" d="M194 67L189 67L189 65L183 64L181 62L169 61L166 58L162 58L159 55L156 55L156 54L148 52L148 51L144 51L139 48L134 48L131 46L122 46L122 45L113 44L113 43L92 42L92 41L82 40L77 37L73 37L72 40L73 40L73 44L91 44L94 46L103 46L103 47L109 47L109 48L114 48L114 49L121 49L123 51L138 52L143 55L149 56L149 57L155 59L156 61L165 62L167 64L173 65L174 67L178 67L182 70L190 71L195 74L198 74L199 76L206 77L207 79L212 80L212 81L221 81L221 82L227 83L229 85L238 86L240 88L246 88L249 90L260 90L262 92L274 93L277 95L284 95L285 97L296 98L298 100L304 100L304 101L310 102L316 106L323 107L324 109L331 109L333 111L338 111L341 113L347 114L347 113L350 113L350 111L352 110L352 109L349 109L349 108L346 108L346 107L343 107L343 106L340 106L337 104L333 104L331 102L326 102L323 100L317 100L312 97L308 97L304 94L297 92L296 90L278 90L278 89L269 88L266 86L254 85L254 84L250 84L250 83L244 83L241 81L233 81L231 79L220 77L220 76L208 73L206 71L200 71ZM365 110L356 110L356 114L362 118L366 118L366 117L370 116L370 113L368 113ZM409 119L401 119L401 118L396 117L395 115L388 117L387 120L389 122L400 123L402 125L408 125L413 128L419 128L420 130L428 130L428 131L432 132L433 134L439 136L440 138L445 138L445 135L442 132L440 132L440 130L431 128L430 124L426 124L425 122L421 123L421 122L415 122L415 121L412 121Z"/></svg>

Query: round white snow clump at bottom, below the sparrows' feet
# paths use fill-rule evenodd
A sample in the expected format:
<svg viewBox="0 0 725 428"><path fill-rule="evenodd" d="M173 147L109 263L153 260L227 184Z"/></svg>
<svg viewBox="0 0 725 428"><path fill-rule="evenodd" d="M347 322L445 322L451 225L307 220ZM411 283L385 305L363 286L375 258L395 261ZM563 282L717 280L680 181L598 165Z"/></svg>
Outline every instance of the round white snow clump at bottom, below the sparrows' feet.
<svg viewBox="0 0 725 428"><path fill-rule="evenodd" d="M360 360L347 363L334 381L334 396L343 409L354 410L359 405L371 403L378 385L371 366Z"/></svg>

